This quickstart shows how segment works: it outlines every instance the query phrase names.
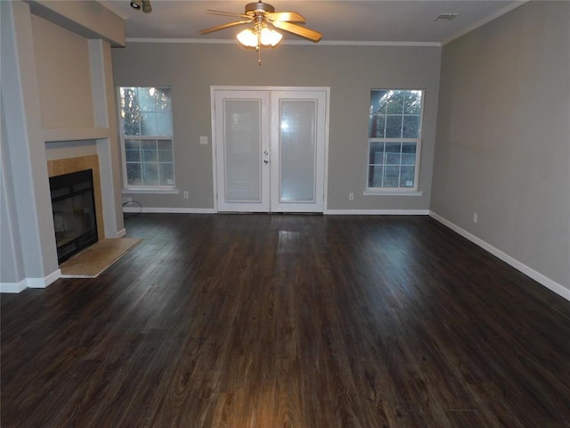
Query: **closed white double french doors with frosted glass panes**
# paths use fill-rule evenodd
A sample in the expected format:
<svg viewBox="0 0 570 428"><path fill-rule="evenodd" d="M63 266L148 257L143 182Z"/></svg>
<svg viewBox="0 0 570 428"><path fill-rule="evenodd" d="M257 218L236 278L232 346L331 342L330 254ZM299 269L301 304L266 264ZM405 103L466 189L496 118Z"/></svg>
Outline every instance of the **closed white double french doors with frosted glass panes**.
<svg viewBox="0 0 570 428"><path fill-rule="evenodd" d="M215 89L218 211L322 212L326 89Z"/></svg>

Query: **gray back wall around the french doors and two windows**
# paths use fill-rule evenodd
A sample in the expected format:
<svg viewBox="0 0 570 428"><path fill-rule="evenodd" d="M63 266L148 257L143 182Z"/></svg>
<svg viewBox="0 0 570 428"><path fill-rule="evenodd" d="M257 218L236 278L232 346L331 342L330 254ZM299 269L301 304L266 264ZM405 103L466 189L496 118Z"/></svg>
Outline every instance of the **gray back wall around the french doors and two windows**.
<svg viewBox="0 0 570 428"><path fill-rule="evenodd" d="M428 210L436 136L440 47L127 43L113 49L118 86L172 86L179 194L130 194L143 207L212 209L210 86L330 86L329 210ZM371 88L426 90L419 190L423 196L364 196ZM210 144L199 145L199 136ZM354 201L348 201L348 193ZM126 194L125 194L126 196Z"/></svg>

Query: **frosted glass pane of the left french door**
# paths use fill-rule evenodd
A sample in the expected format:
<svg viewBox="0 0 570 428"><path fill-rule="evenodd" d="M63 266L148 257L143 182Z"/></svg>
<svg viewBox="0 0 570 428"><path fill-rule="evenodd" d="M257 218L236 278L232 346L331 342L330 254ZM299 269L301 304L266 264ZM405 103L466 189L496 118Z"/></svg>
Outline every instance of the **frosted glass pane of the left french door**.
<svg viewBox="0 0 570 428"><path fill-rule="evenodd" d="M261 100L224 100L225 202L261 201Z"/></svg>

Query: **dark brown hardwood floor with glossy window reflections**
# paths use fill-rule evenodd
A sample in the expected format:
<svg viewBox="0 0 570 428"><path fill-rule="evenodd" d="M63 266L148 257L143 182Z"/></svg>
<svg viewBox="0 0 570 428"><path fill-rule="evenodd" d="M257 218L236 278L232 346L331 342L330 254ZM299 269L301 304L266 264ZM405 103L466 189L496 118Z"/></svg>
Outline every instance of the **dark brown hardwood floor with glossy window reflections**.
<svg viewBox="0 0 570 428"><path fill-rule="evenodd" d="M570 427L570 302L428 217L142 214L3 294L12 427Z"/></svg>

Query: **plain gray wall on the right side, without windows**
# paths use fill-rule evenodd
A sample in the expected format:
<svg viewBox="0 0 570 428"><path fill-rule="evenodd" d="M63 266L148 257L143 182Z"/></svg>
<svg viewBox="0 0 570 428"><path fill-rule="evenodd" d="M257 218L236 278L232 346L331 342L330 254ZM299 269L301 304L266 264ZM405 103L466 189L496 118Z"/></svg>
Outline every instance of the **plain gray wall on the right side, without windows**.
<svg viewBox="0 0 570 428"><path fill-rule="evenodd" d="M570 290L569 54L567 2L444 46L431 210Z"/></svg>

